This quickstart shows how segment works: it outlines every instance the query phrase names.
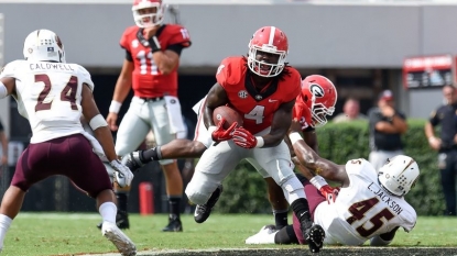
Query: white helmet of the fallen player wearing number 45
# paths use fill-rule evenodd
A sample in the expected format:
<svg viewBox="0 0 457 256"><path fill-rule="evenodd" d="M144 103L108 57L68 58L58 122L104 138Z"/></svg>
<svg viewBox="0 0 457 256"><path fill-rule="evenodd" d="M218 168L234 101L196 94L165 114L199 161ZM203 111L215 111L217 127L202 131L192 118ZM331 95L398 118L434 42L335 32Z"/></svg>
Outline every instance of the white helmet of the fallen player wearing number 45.
<svg viewBox="0 0 457 256"><path fill-rule="evenodd" d="M413 158L398 155L379 169L378 180L389 192L402 197L414 187L420 169Z"/></svg>

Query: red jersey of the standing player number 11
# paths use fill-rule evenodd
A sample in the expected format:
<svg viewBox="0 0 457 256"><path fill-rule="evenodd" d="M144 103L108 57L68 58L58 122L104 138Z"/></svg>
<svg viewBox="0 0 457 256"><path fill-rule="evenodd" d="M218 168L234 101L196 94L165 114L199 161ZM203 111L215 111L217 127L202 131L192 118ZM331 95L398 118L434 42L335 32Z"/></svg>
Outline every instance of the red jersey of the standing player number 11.
<svg viewBox="0 0 457 256"><path fill-rule="evenodd" d="M134 96L144 98L163 97L164 94L177 96L177 66L168 75L162 75L152 58L151 47L141 44L138 38L140 27L128 27L120 40L122 48L128 51L133 58L132 88ZM170 45L181 44L191 46L191 37L187 30L181 25L166 24L159 29L159 42L164 51Z"/></svg>

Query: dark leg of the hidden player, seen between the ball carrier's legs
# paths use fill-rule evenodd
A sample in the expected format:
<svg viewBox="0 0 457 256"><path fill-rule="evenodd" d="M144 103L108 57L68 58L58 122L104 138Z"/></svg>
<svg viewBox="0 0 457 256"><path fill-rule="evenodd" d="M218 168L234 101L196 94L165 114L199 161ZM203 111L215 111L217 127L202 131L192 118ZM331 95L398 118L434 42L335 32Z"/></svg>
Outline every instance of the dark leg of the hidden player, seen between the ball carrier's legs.
<svg viewBox="0 0 457 256"><path fill-rule="evenodd" d="M247 158L255 170L262 176L266 183L269 201L273 210L276 230L287 225L289 202L285 200L281 186L270 177L270 175L253 158Z"/></svg>

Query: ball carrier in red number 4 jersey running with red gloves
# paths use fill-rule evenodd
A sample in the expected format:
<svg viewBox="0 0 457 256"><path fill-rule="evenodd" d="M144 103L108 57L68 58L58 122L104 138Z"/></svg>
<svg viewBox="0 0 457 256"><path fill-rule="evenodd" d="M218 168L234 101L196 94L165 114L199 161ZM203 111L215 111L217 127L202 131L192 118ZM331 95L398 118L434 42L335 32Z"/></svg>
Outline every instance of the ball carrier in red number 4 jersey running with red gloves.
<svg viewBox="0 0 457 256"><path fill-rule="evenodd" d="M249 43L248 57L229 57L217 70L209 90L204 121L214 144L202 155L186 187L188 199L198 204L195 220L204 222L217 202L225 177L246 158L263 168L283 188L312 252L319 252L324 230L311 220L303 185L295 176L284 136L292 122L301 77L285 64L287 37L275 26L259 29ZM243 116L243 127L215 125L213 111L228 104Z"/></svg>

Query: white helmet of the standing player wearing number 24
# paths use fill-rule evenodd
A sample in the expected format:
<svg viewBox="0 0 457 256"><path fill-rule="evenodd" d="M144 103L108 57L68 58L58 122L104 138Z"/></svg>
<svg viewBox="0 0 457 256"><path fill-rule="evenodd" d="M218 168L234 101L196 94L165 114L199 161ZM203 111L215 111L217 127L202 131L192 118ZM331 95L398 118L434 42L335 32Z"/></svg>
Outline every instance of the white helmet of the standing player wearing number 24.
<svg viewBox="0 0 457 256"><path fill-rule="evenodd" d="M58 35L50 30L36 30L24 42L24 58L36 62L65 63L65 51Z"/></svg>

